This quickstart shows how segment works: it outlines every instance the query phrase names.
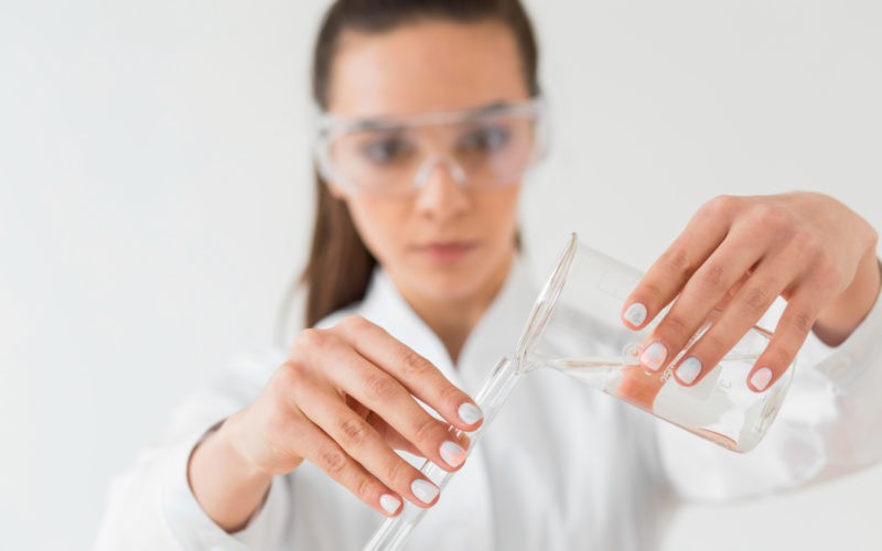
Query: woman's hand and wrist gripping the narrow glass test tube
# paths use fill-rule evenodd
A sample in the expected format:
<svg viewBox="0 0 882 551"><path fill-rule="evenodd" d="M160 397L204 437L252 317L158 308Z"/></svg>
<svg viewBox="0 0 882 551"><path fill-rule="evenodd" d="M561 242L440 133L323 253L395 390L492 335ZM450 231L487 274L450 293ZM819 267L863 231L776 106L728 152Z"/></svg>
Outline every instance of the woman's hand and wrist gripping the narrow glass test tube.
<svg viewBox="0 0 882 551"><path fill-rule="evenodd" d="M417 399L447 422L430 415ZM245 483L237 475L254 480L252 486L262 485L259 495L251 491L251 499L246 499L259 497L250 508L252 514L269 480L306 460L369 506L394 516L401 509L400 497L429 507L439 493L395 449L455 471L465 461L467 439L458 442L453 428L473 431L481 420L474 401L431 363L381 327L352 316L333 328L310 328L298 335L289 359L260 397L196 449L190 465L191 486L208 515L233 531L248 518L236 518L241 512L230 518L217 501L229 499L236 509L249 509L243 508L243 493L207 485L235 489ZM235 454L219 464L237 466L233 469L239 473L200 476L202 468L217 468L209 466L209 447Z"/></svg>

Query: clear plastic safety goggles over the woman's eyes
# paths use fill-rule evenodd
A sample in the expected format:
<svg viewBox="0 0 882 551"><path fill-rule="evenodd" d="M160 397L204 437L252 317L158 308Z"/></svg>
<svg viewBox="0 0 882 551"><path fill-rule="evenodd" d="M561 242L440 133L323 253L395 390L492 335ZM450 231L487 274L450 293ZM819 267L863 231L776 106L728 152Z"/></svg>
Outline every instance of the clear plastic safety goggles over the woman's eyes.
<svg viewBox="0 0 882 551"><path fill-rule="evenodd" d="M326 179L377 196L412 194L437 170L474 190L514 184L539 149L537 118L501 109L430 123L363 121L329 133L320 163Z"/></svg>

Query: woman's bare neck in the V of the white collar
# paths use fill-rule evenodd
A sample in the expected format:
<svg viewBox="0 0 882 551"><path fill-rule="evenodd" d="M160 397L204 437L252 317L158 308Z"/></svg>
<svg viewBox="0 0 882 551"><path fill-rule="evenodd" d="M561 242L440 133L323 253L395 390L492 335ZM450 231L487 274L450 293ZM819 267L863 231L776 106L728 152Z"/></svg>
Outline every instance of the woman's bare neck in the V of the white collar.
<svg viewBox="0 0 882 551"><path fill-rule="evenodd" d="M439 299L402 290L407 303L438 335L454 365L469 335L505 284L513 260L513 257L506 259L504 266L485 284L462 299Z"/></svg>

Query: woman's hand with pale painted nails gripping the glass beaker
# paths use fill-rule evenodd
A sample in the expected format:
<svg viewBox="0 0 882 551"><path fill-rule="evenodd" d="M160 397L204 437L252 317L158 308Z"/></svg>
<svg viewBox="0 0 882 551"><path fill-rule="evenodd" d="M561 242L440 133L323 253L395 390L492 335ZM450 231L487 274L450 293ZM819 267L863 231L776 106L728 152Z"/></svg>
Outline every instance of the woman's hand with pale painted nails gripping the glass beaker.
<svg viewBox="0 0 882 551"><path fill-rule="evenodd" d="M717 197L652 266L622 318L643 327L676 299L641 355L644 367L658 370L718 309L711 328L673 366L680 383L695 385L783 296L787 307L747 374L749 387L761 392L809 331L836 346L861 323L880 289L876 240L867 220L826 195Z"/></svg>

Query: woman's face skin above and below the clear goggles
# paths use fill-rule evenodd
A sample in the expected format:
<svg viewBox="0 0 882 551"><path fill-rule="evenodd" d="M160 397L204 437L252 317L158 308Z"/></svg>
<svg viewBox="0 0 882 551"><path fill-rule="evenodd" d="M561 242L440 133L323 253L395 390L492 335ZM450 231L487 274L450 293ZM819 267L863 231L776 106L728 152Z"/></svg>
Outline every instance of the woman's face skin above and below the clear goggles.
<svg viewBox="0 0 882 551"><path fill-rule="evenodd" d="M329 110L342 117L473 109L529 98L512 32L495 22L429 20L391 32L341 36ZM514 253L519 182L461 186L437 165L405 197L348 194L363 240L407 294L467 300L498 285Z"/></svg>

